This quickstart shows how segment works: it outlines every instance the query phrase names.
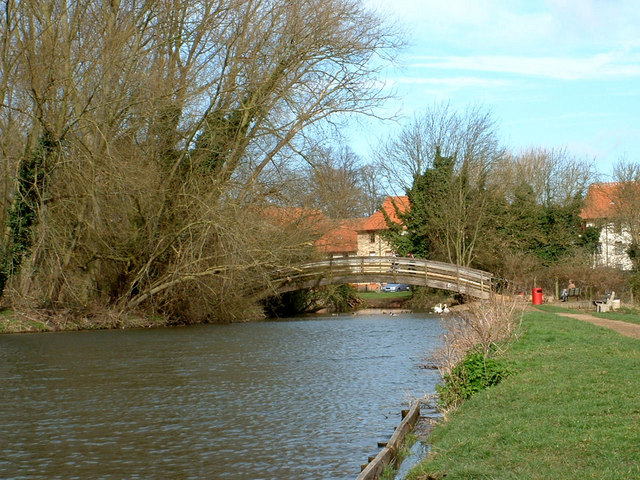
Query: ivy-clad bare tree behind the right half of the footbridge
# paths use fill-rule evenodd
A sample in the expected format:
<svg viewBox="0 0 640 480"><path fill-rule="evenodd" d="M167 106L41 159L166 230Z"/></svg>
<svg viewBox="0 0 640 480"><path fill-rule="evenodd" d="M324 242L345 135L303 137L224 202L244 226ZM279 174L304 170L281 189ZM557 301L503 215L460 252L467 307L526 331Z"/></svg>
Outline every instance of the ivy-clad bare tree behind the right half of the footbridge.
<svg viewBox="0 0 640 480"><path fill-rule="evenodd" d="M489 113L437 105L384 145L378 166L406 191L415 254L469 266L488 221L487 185L504 156ZM406 239L399 239L406 242Z"/></svg>

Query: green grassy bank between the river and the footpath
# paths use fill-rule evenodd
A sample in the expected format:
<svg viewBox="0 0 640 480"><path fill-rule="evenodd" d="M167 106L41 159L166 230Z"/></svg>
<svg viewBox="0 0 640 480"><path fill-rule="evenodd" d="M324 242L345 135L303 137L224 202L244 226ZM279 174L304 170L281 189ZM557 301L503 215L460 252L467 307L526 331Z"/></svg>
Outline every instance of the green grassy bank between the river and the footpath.
<svg viewBox="0 0 640 480"><path fill-rule="evenodd" d="M438 426L408 478L640 478L638 340L548 312L523 328L516 373Z"/></svg>

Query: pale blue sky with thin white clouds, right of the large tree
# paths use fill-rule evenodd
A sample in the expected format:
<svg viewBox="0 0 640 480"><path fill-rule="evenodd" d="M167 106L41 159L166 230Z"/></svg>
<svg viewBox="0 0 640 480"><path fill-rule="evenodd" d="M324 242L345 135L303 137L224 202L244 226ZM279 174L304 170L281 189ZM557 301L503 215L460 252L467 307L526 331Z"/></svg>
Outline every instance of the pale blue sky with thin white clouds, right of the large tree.
<svg viewBox="0 0 640 480"><path fill-rule="evenodd" d="M479 106L514 152L566 148L603 180L640 162L639 0L367 0L408 42L383 79L405 123L438 103ZM367 120L365 154L400 123Z"/></svg>

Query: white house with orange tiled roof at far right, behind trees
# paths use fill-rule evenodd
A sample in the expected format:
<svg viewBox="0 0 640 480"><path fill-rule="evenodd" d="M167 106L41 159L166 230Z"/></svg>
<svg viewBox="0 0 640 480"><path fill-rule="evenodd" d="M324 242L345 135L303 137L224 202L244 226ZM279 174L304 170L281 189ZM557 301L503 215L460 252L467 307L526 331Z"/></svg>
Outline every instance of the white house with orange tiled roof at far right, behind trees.
<svg viewBox="0 0 640 480"><path fill-rule="evenodd" d="M631 235L613 221L616 216L619 191L618 182L591 185L580 217L587 227L601 227L594 266L630 270L633 268L633 263L627 255L627 250L631 244Z"/></svg>

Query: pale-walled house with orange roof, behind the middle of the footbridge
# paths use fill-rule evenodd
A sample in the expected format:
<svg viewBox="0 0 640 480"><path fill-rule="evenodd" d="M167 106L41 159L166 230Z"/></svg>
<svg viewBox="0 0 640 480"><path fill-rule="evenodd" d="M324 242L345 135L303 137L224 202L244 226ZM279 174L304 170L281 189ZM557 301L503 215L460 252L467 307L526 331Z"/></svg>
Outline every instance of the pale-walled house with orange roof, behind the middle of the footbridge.
<svg viewBox="0 0 640 480"><path fill-rule="evenodd" d="M401 214L409 210L409 197L387 197L382 207L371 215L358 229L358 255L359 256L391 256L391 245L381 235L388 230L387 219L398 225L402 224Z"/></svg>

